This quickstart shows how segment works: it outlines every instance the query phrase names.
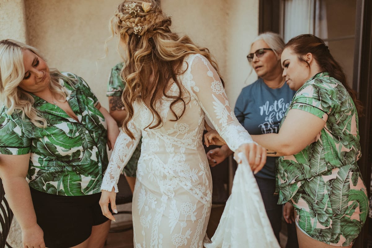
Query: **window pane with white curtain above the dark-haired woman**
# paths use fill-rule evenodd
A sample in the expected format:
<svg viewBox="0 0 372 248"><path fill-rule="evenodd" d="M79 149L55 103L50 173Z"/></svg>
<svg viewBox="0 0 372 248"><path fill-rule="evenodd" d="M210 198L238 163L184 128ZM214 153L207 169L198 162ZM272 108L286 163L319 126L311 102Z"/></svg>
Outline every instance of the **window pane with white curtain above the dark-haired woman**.
<svg viewBox="0 0 372 248"><path fill-rule="evenodd" d="M352 84L357 0L281 0L285 42L302 33L323 39Z"/></svg>

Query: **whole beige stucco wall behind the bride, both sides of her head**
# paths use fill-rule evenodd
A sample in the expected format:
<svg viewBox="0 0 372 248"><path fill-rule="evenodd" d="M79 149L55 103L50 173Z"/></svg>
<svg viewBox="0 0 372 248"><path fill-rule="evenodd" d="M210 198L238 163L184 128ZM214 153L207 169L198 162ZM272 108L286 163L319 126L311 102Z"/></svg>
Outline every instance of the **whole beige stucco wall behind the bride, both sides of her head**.
<svg viewBox="0 0 372 248"><path fill-rule="evenodd" d="M0 37L28 42L45 55L50 67L80 75L108 107L108 74L120 60L115 39L108 43L108 55L99 58L105 55L103 44L110 36L108 20L120 2L1 0L6 7L0 8ZM258 1L161 0L161 6L173 15L174 31L210 49L234 106L244 82L256 78L252 73L246 80L251 71L246 55L258 32Z"/></svg>

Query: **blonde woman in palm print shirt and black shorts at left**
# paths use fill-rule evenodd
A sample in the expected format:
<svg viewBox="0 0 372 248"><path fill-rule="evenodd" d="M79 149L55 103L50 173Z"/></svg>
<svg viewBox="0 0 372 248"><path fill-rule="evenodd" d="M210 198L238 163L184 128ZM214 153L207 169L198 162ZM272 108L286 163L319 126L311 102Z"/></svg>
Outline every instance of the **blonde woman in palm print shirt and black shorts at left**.
<svg viewBox="0 0 372 248"><path fill-rule="evenodd" d="M102 248L100 183L119 133L85 81L0 41L0 177L23 247ZM106 131L107 127L107 131Z"/></svg>

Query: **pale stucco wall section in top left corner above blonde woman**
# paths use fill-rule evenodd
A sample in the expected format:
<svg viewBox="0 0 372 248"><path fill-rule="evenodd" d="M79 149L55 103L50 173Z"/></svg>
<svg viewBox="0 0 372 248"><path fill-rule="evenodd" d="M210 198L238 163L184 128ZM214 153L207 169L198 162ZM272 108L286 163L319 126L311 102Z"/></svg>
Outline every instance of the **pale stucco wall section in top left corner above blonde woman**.
<svg viewBox="0 0 372 248"><path fill-rule="evenodd" d="M0 0L0 40L27 42L23 0Z"/></svg>

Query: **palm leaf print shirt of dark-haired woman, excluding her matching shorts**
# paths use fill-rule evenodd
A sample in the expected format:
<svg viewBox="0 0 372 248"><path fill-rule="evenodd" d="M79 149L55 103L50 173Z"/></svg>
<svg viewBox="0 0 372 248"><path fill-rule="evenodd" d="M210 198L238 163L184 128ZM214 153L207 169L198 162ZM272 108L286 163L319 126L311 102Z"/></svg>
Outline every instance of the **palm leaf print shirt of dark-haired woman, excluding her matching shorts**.
<svg viewBox="0 0 372 248"><path fill-rule="evenodd" d="M324 195L321 192L324 192L324 187L329 187L328 179L340 177L342 180L340 173L343 169L333 170L334 168L348 168L346 174L347 171L355 172L353 180L356 183L361 177L357 166L361 155L358 118L346 88L328 73L319 73L299 88L285 116L290 109L312 113L323 119L325 125L314 142L301 152L278 157L278 204L288 202L293 197L296 201L301 194L312 198ZM301 187L304 192L301 190L300 193ZM336 192L337 190L341 192ZM342 187L334 189L333 194L342 195L342 190ZM322 199L314 199L314 202L317 200Z"/></svg>

